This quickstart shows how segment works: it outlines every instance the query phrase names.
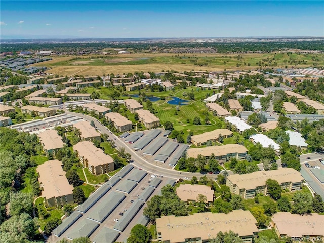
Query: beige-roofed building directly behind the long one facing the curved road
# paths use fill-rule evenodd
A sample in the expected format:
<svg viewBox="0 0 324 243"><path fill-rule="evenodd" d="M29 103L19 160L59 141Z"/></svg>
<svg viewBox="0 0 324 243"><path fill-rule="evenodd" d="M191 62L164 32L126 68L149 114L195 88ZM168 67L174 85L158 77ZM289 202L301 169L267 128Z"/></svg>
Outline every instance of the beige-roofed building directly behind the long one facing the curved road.
<svg viewBox="0 0 324 243"><path fill-rule="evenodd" d="M191 143L195 146L201 146L208 143L209 141L216 142L218 141L220 135L223 138L228 138L231 137L233 133L228 129L215 129L211 132L191 136Z"/></svg>

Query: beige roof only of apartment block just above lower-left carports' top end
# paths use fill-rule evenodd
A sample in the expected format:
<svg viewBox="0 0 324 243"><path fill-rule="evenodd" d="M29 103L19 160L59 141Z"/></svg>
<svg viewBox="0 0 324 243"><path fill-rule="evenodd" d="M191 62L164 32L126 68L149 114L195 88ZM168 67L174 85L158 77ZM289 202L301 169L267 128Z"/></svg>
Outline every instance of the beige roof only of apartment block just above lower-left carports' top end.
<svg viewBox="0 0 324 243"><path fill-rule="evenodd" d="M90 166L100 166L108 163L113 163L113 159L110 156L104 154L104 152L93 145L90 141L82 141L73 146L74 150L77 150L81 157L88 160Z"/></svg>

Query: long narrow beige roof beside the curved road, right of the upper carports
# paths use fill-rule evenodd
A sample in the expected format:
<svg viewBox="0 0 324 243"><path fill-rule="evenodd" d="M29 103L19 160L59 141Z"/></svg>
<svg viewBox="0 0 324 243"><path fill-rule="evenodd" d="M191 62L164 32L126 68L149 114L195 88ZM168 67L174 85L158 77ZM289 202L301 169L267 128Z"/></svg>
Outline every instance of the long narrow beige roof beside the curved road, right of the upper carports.
<svg viewBox="0 0 324 243"><path fill-rule="evenodd" d="M248 149L243 145L239 144L226 144L224 146L209 146L205 148L190 148L187 150L187 154L191 158L196 158L198 154L203 155L204 157L210 156L212 153L215 156L223 156L229 153L246 153Z"/></svg>

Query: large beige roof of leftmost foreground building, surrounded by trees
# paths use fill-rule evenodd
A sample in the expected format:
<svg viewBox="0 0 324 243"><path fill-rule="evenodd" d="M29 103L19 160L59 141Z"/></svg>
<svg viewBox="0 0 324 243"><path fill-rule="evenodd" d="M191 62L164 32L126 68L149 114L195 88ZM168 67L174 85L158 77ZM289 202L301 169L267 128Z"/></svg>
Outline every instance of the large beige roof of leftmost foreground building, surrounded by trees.
<svg viewBox="0 0 324 243"><path fill-rule="evenodd" d="M73 186L69 184L62 168L62 162L54 159L46 161L36 169L38 181L43 187L42 196L47 199L73 194Z"/></svg>

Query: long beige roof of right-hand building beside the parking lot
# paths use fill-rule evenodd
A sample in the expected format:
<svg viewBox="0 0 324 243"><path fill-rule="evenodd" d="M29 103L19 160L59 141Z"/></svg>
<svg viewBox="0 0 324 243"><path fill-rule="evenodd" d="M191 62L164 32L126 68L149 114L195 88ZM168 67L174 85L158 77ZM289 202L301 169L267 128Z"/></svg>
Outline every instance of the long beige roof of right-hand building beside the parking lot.
<svg viewBox="0 0 324 243"><path fill-rule="evenodd" d="M273 171L255 171L249 174L234 174L227 177L234 185L240 189L255 189L258 186L264 186L267 179L276 180L281 183L301 182L304 178L299 171L293 168L279 168Z"/></svg>

